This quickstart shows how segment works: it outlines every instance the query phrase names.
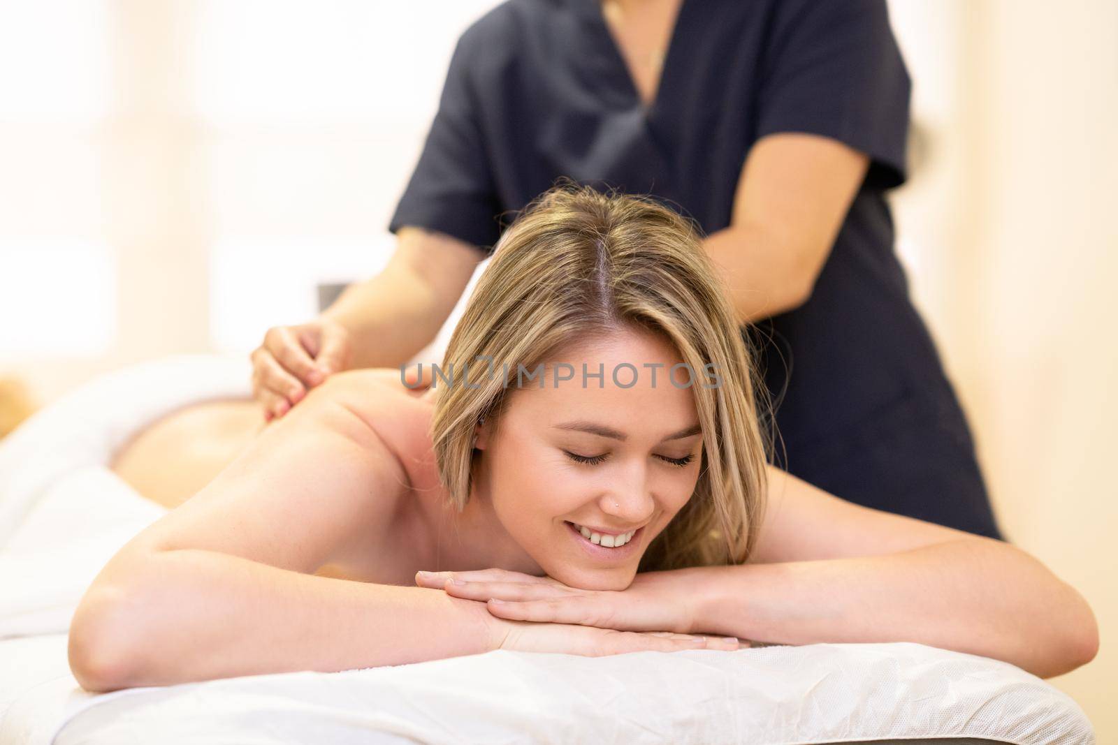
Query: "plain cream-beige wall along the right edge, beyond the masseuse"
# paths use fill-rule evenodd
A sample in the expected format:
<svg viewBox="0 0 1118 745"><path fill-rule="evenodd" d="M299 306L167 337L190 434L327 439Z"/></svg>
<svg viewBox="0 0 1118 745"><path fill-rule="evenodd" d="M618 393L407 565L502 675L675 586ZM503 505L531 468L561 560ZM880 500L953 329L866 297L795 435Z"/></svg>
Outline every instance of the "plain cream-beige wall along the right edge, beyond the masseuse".
<svg viewBox="0 0 1118 745"><path fill-rule="evenodd" d="M1064 676L1118 741L1118 3L1004 0L973 45L986 80L974 247L972 399L1005 524L1098 615L1097 661Z"/></svg>

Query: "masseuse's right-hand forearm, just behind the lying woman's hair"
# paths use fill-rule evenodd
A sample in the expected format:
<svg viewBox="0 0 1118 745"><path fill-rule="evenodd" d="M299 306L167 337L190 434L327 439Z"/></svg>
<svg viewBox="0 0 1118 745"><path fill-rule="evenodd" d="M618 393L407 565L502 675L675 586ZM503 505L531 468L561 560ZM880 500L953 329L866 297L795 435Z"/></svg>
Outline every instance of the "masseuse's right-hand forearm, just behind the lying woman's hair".
<svg viewBox="0 0 1118 745"><path fill-rule="evenodd" d="M822 266L818 250L803 250L793 236L778 236L760 225L741 223L712 232L703 248L721 270L743 324L803 305Z"/></svg>

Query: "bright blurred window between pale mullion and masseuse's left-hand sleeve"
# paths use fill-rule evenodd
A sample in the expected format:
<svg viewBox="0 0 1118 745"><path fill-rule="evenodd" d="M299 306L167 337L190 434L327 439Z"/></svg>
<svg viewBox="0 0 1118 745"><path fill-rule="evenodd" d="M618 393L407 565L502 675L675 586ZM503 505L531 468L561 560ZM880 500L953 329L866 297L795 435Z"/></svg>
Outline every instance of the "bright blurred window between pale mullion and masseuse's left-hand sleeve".
<svg viewBox="0 0 1118 745"><path fill-rule="evenodd" d="M220 351L309 321L388 261L455 41L498 1L200 3L191 90Z"/></svg>

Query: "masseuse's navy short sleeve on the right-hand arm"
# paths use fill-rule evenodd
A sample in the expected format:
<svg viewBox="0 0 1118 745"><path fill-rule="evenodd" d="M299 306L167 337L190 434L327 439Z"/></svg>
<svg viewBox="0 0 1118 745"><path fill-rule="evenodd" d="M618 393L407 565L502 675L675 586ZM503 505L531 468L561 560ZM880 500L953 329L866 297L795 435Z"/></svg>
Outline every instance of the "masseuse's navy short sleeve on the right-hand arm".
<svg viewBox="0 0 1118 745"><path fill-rule="evenodd" d="M903 183L911 80L885 0L798 0L777 8L757 139L777 132L832 137L870 156L869 183Z"/></svg>

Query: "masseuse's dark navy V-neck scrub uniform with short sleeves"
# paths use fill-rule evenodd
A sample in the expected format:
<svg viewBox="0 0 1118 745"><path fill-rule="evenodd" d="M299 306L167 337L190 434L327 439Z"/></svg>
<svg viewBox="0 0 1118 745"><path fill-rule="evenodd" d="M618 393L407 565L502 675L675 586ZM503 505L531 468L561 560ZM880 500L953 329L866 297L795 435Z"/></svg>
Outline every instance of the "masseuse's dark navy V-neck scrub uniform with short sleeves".
<svg viewBox="0 0 1118 745"><path fill-rule="evenodd" d="M743 331L777 404L773 460L844 499L999 537L893 252L884 191L906 179L909 92L884 0L683 0L647 109L598 0L509 0L458 39L389 230L489 251L500 213L566 175L651 193L712 233L758 139L808 132L866 153L811 299Z"/></svg>

